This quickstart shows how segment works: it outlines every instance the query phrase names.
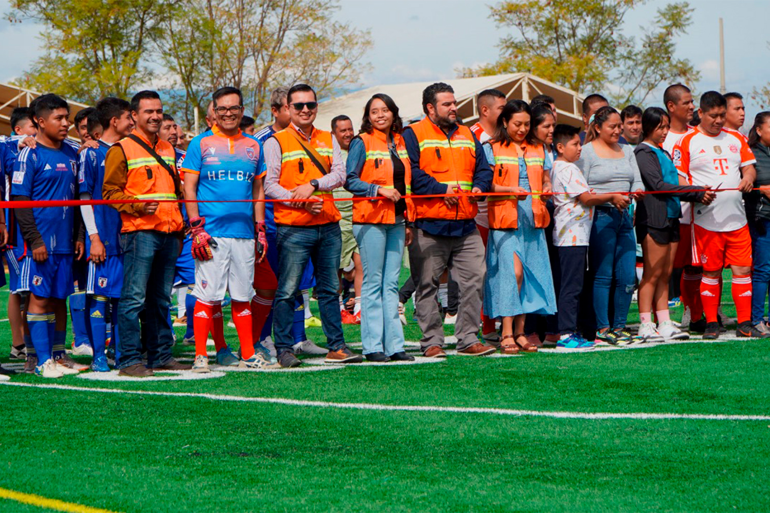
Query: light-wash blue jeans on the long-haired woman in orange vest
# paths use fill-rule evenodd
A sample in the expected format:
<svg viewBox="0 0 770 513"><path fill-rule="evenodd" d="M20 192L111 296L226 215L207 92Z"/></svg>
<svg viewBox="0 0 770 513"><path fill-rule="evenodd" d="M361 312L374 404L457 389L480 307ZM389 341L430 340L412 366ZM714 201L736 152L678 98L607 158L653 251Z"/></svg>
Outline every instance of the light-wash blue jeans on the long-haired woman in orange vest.
<svg viewBox="0 0 770 513"><path fill-rule="evenodd" d="M406 229L403 217L394 225L353 225L363 265L361 341L363 354L403 351L398 318L398 278Z"/></svg>

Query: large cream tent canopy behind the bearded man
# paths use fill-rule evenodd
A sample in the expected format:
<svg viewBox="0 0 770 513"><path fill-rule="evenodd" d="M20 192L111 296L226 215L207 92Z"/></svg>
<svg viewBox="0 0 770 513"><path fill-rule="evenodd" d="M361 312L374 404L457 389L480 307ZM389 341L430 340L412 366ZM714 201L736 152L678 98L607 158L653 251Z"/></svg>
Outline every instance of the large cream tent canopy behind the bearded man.
<svg viewBox="0 0 770 513"><path fill-rule="evenodd" d="M363 116L363 108L373 94L381 92L393 98L398 105L403 122L411 122L423 117L423 89L431 82L410 82L407 84L377 85L352 92L348 95L321 102L318 106L317 128L329 130L331 120L336 115L344 114L353 120L353 128L358 129ZM465 125L478 121L476 97L484 89L497 89L509 100L522 99L529 102L537 95L549 95L554 98L559 115L558 121L567 125L582 126L581 103L583 98L577 92L537 78L529 73L508 73L486 77L455 78L447 81L454 88L457 99L457 115Z"/></svg>

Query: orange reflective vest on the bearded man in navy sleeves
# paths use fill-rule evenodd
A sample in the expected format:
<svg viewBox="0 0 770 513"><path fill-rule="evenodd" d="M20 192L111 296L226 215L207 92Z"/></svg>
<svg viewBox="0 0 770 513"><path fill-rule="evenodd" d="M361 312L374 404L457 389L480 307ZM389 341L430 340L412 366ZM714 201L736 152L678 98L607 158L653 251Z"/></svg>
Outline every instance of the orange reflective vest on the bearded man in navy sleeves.
<svg viewBox="0 0 770 513"><path fill-rule="evenodd" d="M420 145L420 169L444 185L470 192L476 169L476 141L470 129L459 125L451 137L423 118L409 125ZM473 219L478 207L460 197L457 205L447 207L444 198L414 198L418 219Z"/></svg>

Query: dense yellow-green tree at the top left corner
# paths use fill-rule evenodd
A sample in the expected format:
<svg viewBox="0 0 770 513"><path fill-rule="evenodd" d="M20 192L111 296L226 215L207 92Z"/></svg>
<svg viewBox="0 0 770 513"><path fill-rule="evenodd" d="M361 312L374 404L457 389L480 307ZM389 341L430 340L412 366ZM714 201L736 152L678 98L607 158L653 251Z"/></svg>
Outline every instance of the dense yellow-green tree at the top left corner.
<svg viewBox="0 0 770 513"><path fill-rule="evenodd" d="M18 82L94 103L126 97L152 75L144 62L152 36L177 0L12 0L11 21L49 27L45 54Z"/></svg>

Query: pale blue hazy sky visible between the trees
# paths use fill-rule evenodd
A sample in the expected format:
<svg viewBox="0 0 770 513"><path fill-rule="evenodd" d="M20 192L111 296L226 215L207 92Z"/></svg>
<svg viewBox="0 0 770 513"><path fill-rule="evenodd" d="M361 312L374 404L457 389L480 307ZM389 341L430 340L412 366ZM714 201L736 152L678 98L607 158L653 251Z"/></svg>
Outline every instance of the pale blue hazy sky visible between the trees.
<svg viewBox="0 0 770 513"><path fill-rule="evenodd" d="M373 71L363 85L450 79L454 69L494 62L497 42L505 33L488 18L493 2L477 0L342 0L336 16L359 28L370 28L374 48L367 56ZM628 15L627 32L638 30L654 18L656 8L667 2L649 2ZM689 58L701 70L699 92L719 87L718 18L725 20L725 73L728 90L749 95L770 75L765 72L770 49L767 29L770 2L751 0L693 0L693 25L678 38L678 55ZM0 0L2 12L8 1ZM41 25L31 22L11 25L0 20L0 38L6 52L0 66L0 81L20 75L27 63L40 55L35 35ZM13 48L12 52L8 48ZM748 101L747 123L758 112ZM751 116L751 117L749 117Z"/></svg>

